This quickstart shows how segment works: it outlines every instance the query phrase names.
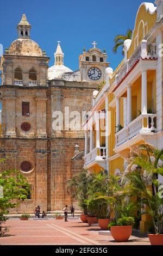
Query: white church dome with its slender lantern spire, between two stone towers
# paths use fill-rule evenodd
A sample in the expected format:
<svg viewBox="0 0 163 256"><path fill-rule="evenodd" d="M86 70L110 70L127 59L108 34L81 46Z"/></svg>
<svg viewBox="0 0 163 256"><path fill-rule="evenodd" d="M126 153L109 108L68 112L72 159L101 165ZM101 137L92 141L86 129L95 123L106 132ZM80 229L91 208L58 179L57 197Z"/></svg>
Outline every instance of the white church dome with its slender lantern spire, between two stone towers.
<svg viewBox="0 0 163 256"><path fill-rule="evenodd" d="M64 53L60 47L60 41L58 41L57 50L54 53L55 63L48 69L48 80L55 78L61 78L61 75L66 72L73 72L71 69L64 66Z"/></svg>

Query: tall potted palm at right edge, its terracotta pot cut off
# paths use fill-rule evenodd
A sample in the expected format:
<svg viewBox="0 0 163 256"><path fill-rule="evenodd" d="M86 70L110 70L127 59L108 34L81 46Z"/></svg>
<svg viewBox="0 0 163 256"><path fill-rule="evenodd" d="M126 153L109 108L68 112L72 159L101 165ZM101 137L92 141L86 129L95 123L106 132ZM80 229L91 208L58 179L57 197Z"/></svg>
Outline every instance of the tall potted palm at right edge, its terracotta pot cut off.
<svg viewBox="0 0 163 256"><path fill-rule="evenodd" d="M135 166L134 170L133 167ZM139 196L151 215L154 234L148 234L151 245L163 245L163 198L158 174L163 175L163 149L141 144L133 149L128 159L124 179L128 180L128 196Z"/></svg>

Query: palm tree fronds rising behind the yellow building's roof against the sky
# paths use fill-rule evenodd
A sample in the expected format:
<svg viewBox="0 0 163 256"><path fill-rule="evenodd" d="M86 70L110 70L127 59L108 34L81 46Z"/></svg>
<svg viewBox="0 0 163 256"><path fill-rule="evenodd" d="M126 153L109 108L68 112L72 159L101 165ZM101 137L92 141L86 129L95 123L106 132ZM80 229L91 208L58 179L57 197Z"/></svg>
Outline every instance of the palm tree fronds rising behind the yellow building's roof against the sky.
<svg viewBox="0 0 163 256"><path fill-rule="evenodd" d="M133 31L131 29L128 29L126 35L117 35L115 37L115 39L114 39L115 46L113 48L113 52L117 53L117 49L120 46L122 46L122 48L123 48L124 41L127 40L127 39L131 39L132 38L132 34L133 34ZM123 50L122 50L122 54L124 55Z"/></svg>

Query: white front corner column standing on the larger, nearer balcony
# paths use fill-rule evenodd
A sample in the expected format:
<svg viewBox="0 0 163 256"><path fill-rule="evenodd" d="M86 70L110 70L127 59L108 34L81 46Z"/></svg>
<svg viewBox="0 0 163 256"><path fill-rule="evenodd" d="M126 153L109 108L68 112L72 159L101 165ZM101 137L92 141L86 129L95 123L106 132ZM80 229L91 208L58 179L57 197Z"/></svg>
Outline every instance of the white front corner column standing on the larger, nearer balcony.
<svg viewBox="0 0 163 256"><path fill-rule="evenodd" d="M141 113L147 114L147 70L142 70Z"/></svg>

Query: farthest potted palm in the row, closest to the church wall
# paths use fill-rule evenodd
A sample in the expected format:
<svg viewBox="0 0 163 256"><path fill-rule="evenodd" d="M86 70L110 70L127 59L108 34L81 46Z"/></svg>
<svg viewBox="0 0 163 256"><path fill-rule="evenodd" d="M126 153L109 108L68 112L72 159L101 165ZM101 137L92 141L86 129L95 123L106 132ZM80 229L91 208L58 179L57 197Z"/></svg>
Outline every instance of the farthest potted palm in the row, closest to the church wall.
<svg viewBox="0 0 163 256"><path fill-rule="evenodd" d="M78 200L79 207L83 210L83 214L80 215L82 222L87 223L87 205L85 200L87 199L87 185L92 182L93 176L87 173L86 169L82 172L73 175L73 177L67 181L67 190L71 193L72 197Z"/></svg>

